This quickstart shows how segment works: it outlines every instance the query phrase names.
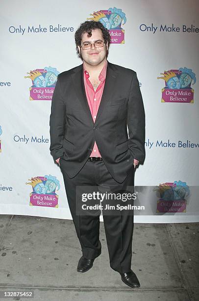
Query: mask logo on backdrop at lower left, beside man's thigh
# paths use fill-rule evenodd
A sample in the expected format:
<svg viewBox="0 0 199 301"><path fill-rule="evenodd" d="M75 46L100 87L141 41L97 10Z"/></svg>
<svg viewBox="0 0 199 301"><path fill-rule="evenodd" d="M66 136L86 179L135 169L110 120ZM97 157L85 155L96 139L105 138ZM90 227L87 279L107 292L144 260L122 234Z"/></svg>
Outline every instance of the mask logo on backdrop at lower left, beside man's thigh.
<svg viewBox="0 0 199 301"><path fill-rule="evenodd" d="M35 177L28 179L32 186L30 193L30 206L54 207L58 208L58 195L55 190L60 189L60 183L51 175L45 177Z"/></svg>

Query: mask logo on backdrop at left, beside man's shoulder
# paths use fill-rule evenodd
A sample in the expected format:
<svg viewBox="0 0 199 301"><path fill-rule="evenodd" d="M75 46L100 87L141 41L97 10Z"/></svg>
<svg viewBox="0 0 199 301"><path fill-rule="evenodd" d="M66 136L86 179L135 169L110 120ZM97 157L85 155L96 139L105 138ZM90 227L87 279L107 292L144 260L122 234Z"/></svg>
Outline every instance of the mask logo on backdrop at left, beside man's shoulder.
<svg viewBox="0 0 199 301"><path fill-rule="evenodd" d="M45 67L44 69L35 69L27 72L32 81L30 90L30 100L51 100L54 92L54 87L57 81L59 71L56 68Z"/></svg>

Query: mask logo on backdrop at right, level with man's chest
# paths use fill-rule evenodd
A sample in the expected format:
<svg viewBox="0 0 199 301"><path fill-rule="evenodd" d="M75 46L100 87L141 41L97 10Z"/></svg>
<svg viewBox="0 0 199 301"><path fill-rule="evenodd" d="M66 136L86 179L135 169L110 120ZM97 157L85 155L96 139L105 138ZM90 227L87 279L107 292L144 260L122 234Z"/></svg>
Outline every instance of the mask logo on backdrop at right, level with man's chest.
<svg viewBox="0 0 199 301"><path fill-rule="evenodd" d="M162 89L162 102L194 103L194 90L191 84L196 83L196 74L192 72L192 69L184 67L160 74L163 76L157 78L165 81L165 87Z"/></svg>

